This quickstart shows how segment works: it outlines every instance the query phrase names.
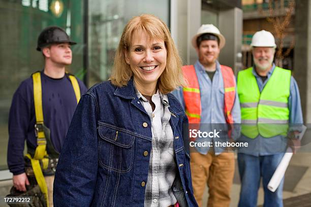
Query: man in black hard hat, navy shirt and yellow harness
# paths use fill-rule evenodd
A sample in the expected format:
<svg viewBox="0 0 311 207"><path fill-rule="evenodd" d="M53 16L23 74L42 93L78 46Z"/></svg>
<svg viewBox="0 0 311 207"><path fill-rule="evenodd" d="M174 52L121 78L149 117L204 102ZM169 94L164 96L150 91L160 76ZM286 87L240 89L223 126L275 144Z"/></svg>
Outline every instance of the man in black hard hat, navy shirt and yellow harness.
<svg viewBox="0 0 311 207"><path fill-rule="evenodd" d="M72 62L74 44L58 26L43 29L37 50L44 56L44 68L20 84L10 109L8 166L14 185L11 194L30 192L39 185L45 198L42 206L53 206L58 156L77 102L87 90L83 82L65 72L65 66Z"/></svg>

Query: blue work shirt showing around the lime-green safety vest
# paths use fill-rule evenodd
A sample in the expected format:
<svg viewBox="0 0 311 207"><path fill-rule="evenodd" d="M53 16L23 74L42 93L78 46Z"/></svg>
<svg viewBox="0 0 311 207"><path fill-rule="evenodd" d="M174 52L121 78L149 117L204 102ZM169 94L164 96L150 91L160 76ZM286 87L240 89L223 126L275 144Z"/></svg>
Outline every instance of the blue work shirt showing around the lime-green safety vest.
<svg viewBox="0 0 311 207"><path fill-rule="evenodd" d="M262 92L263 88L269 81L274 71L274 68L275 64L273 63L271 70L267 74L267 79L263 82L261 77L256 73L255 66L253 67L253 75L256 78L260 92ZM291 77L288 107L290 111L289 123L292 124L289 130L299 130L299 125L303 123L303 118L299 89L294 77ZM255 139L250 139L242 134L239 142L247 142L248 147L244 149L239 149L239 152L243 152L245 154L250 154L253 156L273 155L277 153L282 153L285 152L288 147L287 141L287 137L283 135L266 138L259 134Z"/></svg>

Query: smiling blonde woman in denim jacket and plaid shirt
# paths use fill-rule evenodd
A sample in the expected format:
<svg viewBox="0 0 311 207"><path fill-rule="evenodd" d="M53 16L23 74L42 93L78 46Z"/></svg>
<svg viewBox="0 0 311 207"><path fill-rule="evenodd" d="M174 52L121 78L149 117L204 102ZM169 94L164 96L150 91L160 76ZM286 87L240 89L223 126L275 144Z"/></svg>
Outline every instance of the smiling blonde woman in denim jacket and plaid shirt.
<svg viewBox="0 0 311 207"><path fill-rule="evenodd" d="M184 85L166 24L123 30L109 81L80 99L59 158L55 206L197 206L188 119L170 93ZM187 128L183 128L187 127Z"/></svg>

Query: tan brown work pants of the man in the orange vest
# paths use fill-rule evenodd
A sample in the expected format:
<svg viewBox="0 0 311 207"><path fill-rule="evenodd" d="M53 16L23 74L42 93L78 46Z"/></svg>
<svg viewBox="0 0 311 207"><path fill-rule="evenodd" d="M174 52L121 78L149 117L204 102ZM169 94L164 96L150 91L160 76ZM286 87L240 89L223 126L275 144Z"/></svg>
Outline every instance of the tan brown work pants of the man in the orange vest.
<svg viewBox="0 0 311 207"><path fill-rule="evenodd" d="M226 207L230 205L230 190L234 176L234 153L224 152L215 155L191 153L191 174L194 196L202 206L203 193L208 186L208 207Z"/></svg>

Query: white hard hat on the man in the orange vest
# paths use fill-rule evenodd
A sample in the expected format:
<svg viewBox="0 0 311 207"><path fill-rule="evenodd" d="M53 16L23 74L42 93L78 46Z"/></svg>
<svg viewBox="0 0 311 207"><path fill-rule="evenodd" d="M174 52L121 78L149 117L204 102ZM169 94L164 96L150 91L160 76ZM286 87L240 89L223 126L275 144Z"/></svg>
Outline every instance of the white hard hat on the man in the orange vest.
<svg viewBox="0 0 311 207"><path fill-rule="evenodd" d="M197 39L204 33L214 34L219 38L219 47L222 49L225 46L226 39L223 34L220 33L219 29L212 24L202 24L202 26L198 29L197 34L192 38L192 46L197 48Z"/></svg>

